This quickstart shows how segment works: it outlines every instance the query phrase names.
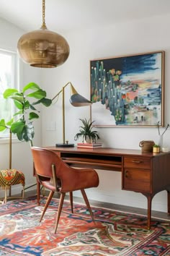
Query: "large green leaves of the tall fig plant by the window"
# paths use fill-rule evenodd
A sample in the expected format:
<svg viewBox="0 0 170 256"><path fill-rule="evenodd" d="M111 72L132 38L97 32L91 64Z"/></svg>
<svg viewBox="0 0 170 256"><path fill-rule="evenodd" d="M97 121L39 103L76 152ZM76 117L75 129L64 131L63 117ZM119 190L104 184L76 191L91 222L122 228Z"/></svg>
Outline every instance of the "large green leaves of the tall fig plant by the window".
<svg viewBox="0 0 170 256"><path fill-rule="evenodd" d="M10 98L14 101L16 112L11 120L0 120L0 132L10 129L10 132L17 135L18 140L30 141L35 135L33 120L39 118L40 111L37 106L40 104L48 107L52 100L46 98L45 90L42 90L35 82L30 82L19 91L14 88L6 89L3 93L5 99Z"/></svg>

